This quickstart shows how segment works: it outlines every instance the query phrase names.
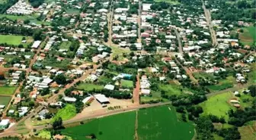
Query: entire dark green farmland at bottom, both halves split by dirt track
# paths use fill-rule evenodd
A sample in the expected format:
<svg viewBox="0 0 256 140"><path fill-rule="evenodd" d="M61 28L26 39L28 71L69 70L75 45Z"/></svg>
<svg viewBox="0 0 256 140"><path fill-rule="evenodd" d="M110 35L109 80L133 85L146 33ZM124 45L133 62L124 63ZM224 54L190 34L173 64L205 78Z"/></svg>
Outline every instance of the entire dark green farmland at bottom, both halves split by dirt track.
<svg viewBox="0 0 256 140"><path fill-rule="evenodd" d="M173 107L162 106L138 110L139 140L152 139L184 139L194 136L194 126L178 121ZM62 130L74 140L89 140L88 135L94 134L101 140L130 140L135 135L136 112L117 114L91 120L86 124ZM181 131L182 130L182 131ZM86 137L87 136L87 137Z"/></svg>

